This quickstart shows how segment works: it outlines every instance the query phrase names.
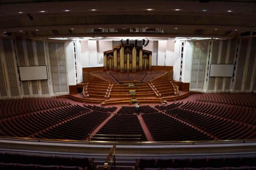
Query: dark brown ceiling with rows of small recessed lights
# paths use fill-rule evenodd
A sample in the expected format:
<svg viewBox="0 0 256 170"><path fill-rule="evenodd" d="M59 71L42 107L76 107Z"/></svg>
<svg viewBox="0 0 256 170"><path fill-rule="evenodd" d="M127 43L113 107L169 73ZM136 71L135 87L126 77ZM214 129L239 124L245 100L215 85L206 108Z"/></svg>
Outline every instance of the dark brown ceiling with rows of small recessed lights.
<svg viewBox="0 0 256 170"><path fill-rule="evenodd" d="M0 0L1 36L230 39L244 32L256 32L256 0Z"/></svg>

